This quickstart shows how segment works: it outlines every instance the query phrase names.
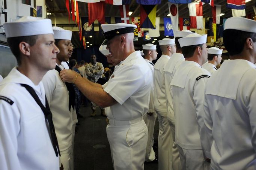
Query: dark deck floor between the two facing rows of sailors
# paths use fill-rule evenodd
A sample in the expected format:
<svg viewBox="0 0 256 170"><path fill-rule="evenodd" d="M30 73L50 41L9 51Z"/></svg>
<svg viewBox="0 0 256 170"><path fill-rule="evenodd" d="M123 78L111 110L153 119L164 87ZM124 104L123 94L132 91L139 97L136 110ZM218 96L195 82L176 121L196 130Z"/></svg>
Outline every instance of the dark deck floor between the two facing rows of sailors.
<svg viewBox="0 0 256 170"><path fill-rule="evenodd" d="M91 112L89 106L80 108L80 114L84 118L79 118L79 130L75 134L74 170L113 170L106 134L106 118L100 116L99 108L97 108L97 114L94 118L90 117ZM157 140L158 128L157 120L154 131L155 140ZM97 146L101 147L102 145L105 145L105 148L97 149ZM157 170L158 163L145 163L144 169Z"/></svg>

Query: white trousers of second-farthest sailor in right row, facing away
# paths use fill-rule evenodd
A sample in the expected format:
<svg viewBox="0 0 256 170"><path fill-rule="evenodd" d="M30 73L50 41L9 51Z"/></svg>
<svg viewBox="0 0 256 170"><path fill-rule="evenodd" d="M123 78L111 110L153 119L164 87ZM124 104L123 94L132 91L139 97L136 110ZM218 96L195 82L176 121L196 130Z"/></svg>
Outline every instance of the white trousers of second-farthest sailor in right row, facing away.
<svg viewBox="0 0 256 170"><path fill-rule="evenodd" d="M167 119L167 112L157 112L159 122L158 133L158 169L169 170L172 167L172 159L170 158L172 147L171 141L171 127Z"/></svg>

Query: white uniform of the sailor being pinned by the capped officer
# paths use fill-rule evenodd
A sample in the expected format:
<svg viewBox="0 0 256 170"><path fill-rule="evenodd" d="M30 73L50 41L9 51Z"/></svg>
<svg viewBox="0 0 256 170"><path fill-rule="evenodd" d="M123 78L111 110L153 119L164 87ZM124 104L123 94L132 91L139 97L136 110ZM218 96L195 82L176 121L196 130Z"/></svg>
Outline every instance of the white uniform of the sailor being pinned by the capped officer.
<svg viewBox="0 0 256 170"><path fill-rule="evenodd" d="M62 64L59 67L61 70L64 69ZM72 167L73 108L71 106L71 111L69 111L68 89L55 69L49 70L42 82L53 113L53 123L60 148L60 161L64 170L69 170Z"/></svg>

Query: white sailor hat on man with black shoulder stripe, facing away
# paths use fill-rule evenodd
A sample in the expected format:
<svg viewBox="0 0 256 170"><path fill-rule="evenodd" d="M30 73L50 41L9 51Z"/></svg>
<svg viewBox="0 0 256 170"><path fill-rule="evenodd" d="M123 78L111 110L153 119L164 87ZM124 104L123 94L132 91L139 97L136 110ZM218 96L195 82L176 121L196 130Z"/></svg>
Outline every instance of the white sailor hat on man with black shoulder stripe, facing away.
<svg viewBox="0 0 256 170"><path fill-rule="evenodd" d="M186 37L180 38L179 44L181 47L190 46L190 45L199 45L206 43L207 34L189 34Z"/></svg>

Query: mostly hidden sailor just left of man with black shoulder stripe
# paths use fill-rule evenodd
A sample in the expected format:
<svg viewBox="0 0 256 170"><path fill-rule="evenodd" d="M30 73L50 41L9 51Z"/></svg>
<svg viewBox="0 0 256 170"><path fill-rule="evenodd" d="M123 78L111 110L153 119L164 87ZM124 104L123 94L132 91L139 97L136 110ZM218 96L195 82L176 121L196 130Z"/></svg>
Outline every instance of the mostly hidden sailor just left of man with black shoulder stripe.
<svg viewBox="0 0 256 170"><path fill-rule="evenodd" d="M172 95L171 95L171 81L173 75L176 70L179 68L181 63L185 60L181 46L178 42L178 39L187 36L188 34L194 34L190 30L182 30L176 31L175 37L175 45L176 45L176 53L173 53L170 59L168 60L166 66L164 67L164 86L165 86L165 94L166 94L166 106L167 106L167 119L170 124L172 135L170 136L170 149L171 155L169 155L169 159L172 161L172 165L170 169L179 170L181 169L181 161L179 158L179 151L177 145L175 143L175 116L173 112L173 104L172 104Z"/></svg>

